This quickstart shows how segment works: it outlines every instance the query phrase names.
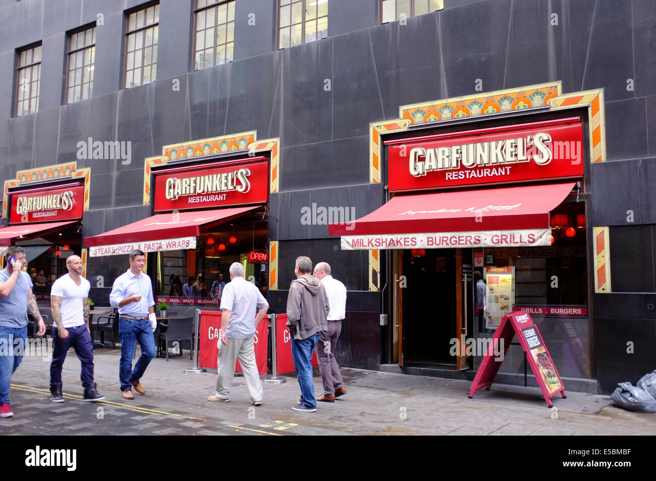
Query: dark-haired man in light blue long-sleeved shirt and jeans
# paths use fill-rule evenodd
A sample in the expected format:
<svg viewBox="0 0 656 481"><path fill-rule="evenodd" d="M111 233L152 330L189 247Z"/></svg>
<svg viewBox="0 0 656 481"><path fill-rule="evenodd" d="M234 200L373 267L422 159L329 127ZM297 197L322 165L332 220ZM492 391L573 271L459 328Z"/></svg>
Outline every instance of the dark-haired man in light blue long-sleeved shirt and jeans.
<svg viewBox="0 0 656 481"><path fill-rule="evenodd" d="M121 334L121 365L119 379L123 398L134 399L132 388L139 394L146 394L139 379L146 367L155 357L155 301L153 286L142 270L146 256L142 251L130 253L130 268L114 281L110 303L119 310L119 332ZM132 369L134 341L141 346L141 357Z"/></svg>

